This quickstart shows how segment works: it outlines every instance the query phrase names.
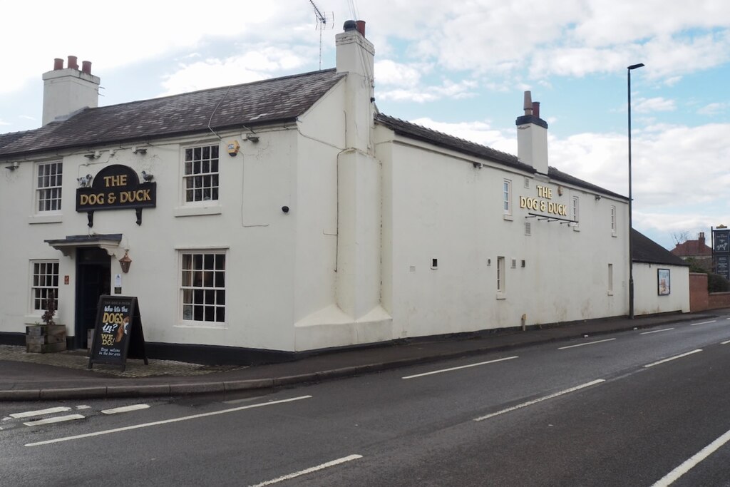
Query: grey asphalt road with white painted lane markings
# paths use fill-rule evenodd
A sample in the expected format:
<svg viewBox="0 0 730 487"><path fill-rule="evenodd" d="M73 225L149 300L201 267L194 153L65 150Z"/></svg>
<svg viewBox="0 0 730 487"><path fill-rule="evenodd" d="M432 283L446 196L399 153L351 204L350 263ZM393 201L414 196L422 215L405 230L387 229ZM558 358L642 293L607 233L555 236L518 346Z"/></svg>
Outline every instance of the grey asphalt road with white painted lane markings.
<svg viewBox="0 0 730 487"><path fill-rule="evenodd" d="M722 317L226 402L0 404L0 485L730 486L729 341Z"/></svg>

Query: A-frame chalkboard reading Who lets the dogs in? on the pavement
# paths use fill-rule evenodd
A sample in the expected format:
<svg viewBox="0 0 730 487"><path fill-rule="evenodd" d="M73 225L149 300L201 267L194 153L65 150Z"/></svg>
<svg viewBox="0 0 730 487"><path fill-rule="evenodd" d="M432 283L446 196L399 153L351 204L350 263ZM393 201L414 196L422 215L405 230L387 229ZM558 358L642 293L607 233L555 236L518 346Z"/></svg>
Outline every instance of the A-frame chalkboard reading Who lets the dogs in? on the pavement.
<svg viewBox="0 0 730 487"><path fill-rule="evenodd" d="M137 297L99 296L89 369L93 364L112 364L124 371L127 357L148 364Z"/></svg>

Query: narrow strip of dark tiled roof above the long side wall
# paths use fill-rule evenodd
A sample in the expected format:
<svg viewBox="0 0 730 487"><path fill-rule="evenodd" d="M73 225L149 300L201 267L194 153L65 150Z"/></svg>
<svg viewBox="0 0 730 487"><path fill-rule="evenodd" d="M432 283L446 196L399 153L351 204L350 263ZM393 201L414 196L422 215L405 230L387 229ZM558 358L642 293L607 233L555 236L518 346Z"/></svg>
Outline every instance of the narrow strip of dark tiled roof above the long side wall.
<svg viewBox="0 0 730 487"><path fill-rule="evenodd" d="M469 156L477 156L482 158L490 159L502 163L506 166L514 167L525 172L535 173L533 166L520 162L517 156L512 154L504 153L499 150L494 150L491 147L480 145L475 142L469 142L468 140L459 139L453 137L453 135L444 134L439 131L427 129L426 127L416 125L415 123L406 122L399 118L394 118L383 113L378 113L375 116L375 120L382 123L388 129L393 130L396 134L404 135L406 137L412 137L423 142L429 142L429 144L437 145L439 147L445 147L447 149L456 150L456 152L468 154ZM615 198L624 199L629 201L626 196L621 196L618 193L613 193L607 189L601 188L600 186L588 183L587 181L573 177L565 172L562 172L555 167L548 167L548 177L556 181L562 181L563 183L578 186L579 188L585 188L589 191L595 191L596 193L602 193L605 195L614 196Z"/></svg>

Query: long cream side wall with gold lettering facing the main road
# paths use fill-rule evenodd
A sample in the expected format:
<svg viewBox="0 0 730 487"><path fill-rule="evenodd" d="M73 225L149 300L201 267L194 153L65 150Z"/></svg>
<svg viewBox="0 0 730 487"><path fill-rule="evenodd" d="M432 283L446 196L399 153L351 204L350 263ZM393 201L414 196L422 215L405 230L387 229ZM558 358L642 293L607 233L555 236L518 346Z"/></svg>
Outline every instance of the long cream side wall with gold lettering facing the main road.
<svg viewBox="0 0 730 487"><path fill-rule="evenodd" d="M392 137L378 130L381 140ZM383 302L400 337L555 323L628 312L626 203L499 167L475 168L458 154L412 142L378 145L383 161ZM512 180L512 217L502 212L502 183ZM580 226L526 219L520 196L536 185L550 202L580 197ZM558 186L564 189L558 196ZM618 207L612 237L610 207ZM524 223L531 223L525 235ZM506 293L496 289L497 258L507 263ZM437 269L431 269L437 258ZM516 267L512 269L512 259ZM525 267L521 267L521 261ZM609 290L608 264L613 264ZM388 269L391 279L388 279Z"/></svg>

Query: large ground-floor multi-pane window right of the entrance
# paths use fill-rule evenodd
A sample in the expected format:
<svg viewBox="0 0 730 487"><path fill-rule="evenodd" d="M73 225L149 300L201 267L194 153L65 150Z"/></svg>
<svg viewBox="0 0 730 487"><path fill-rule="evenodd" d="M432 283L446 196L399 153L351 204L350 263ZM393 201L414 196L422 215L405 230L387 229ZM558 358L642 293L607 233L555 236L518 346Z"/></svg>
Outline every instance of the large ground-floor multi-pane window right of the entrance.
<svg viewBox="0 0 730 487"><path fill-rule="evenodd" d="M180 253L183 323L226 323L226 252Z"/></svg>

